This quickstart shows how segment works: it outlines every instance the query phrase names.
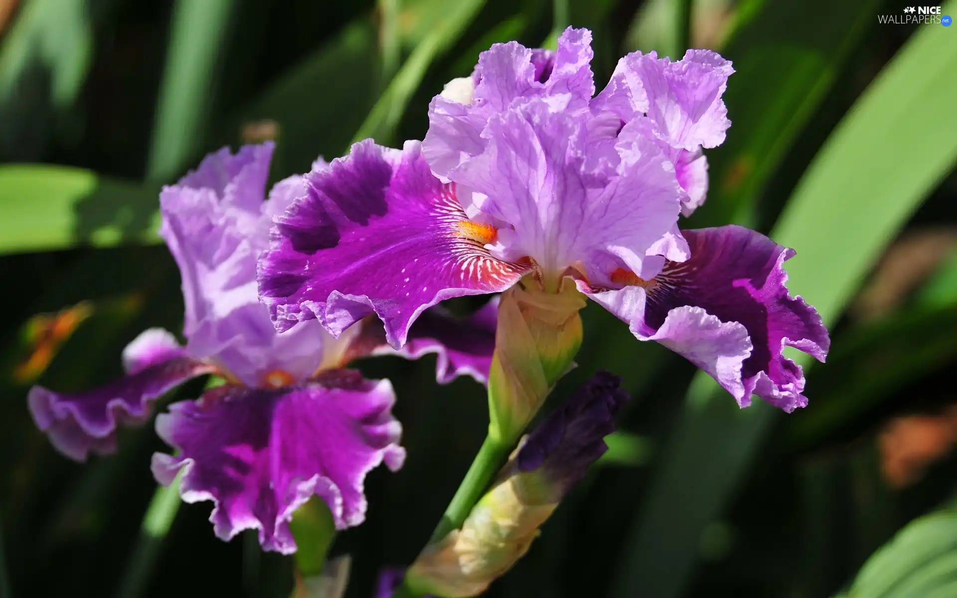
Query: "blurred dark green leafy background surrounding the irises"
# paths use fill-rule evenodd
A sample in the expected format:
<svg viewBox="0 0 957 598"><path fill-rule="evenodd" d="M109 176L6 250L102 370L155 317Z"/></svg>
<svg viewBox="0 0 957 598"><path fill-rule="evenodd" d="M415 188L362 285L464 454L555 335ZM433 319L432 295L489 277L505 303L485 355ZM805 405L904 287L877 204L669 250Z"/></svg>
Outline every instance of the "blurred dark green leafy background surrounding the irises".
<svg viewBox="0 0 957 598"><path fill-rule="evenodd" d="M734 61L733 125L684 226L795 248L790 289L834 343L807 409L738 410L587 308L550 400L611 369L634 392L625 435L487 595L957 596L957 26L879 24L905 4L0 0L0 598L288 596L289 560L250 533L216 540L211 503L168 533L144 523L165 450L151 426L80 466L34 429L27 388L102 384L142 329L179 329L157 191L205 152L276 139L278 179L355 139L421 139L481 50L568 24L594 32L599 89L636 49ZM393 380L409 458L373 472L367 522L333 548L352 555L350 598L412 561L487 424L483 389L436 387L433 358L362 367Z"/></svg>

